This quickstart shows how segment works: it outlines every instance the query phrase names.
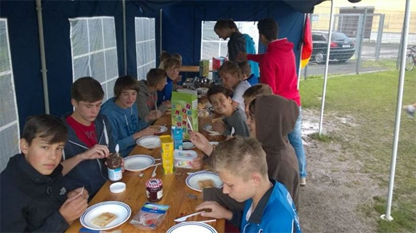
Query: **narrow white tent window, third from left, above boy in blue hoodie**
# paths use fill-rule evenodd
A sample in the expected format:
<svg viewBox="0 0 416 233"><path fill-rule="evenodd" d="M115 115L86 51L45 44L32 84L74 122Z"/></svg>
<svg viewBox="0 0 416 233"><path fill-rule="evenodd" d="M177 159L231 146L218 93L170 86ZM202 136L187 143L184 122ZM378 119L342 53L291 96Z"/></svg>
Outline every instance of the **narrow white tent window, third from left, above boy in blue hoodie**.
<svg viewBox="0 0 416 233"><path fill-rule="evenodd" d="M135 17L137 79L146 80L156 67L155 19Z"/></svg>

